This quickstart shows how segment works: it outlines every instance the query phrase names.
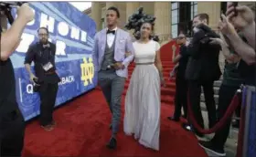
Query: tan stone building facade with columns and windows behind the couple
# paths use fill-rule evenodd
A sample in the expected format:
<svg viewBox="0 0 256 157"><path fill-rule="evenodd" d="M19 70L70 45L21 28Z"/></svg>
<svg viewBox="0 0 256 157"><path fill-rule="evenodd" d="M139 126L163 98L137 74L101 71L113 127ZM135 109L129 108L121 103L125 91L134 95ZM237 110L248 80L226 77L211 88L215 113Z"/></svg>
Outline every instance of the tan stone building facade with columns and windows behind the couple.
<svg viewBox="0 0 256 157"><path fill-rule="evenodd" d="M253 2L240 2L240 5L250 5L255 9ZM209 26L217 30L220 13L226 11L227 2L92 2L91 8L85 10L84 14L96 22L97 30L105 27L105 12L110 6L119 9L121 28L124 28L129 16L143 6L145 14L156 17L155 35L159 36L161 45L164 45L175 38L178 32L189 31L189 21L199 13L207 13ZM220 56L219 63L223 67L223 56Z"/></svg>

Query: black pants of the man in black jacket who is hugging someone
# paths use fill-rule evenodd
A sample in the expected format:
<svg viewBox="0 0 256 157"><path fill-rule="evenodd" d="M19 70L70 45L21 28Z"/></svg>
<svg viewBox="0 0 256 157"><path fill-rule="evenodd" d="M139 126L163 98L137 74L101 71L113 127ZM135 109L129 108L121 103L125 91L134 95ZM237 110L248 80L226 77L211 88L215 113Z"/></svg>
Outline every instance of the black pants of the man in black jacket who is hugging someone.
<svg viewBox="0 0 256 157"><path fill-rule="evenodd" d="M208 110L209 128L214 126L217 119L213 82L214 81L188 81L189 99L192 112L195 116L195 119L197 120L198 125L202 128L204 128L204 120L200 108L201 87L204 89L205 102Z"/></svg>

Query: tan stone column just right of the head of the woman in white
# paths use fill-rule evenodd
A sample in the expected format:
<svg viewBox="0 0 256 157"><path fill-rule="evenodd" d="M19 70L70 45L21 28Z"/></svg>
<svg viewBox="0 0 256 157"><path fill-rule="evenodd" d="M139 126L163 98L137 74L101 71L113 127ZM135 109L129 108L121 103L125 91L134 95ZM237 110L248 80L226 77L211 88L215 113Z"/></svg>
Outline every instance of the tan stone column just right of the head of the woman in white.
<svg viewBox="0 0 256 157"><path fill-rule="evenodd" d="M165 42L171 34L171 2L155 2L155 35Z"/></svg>

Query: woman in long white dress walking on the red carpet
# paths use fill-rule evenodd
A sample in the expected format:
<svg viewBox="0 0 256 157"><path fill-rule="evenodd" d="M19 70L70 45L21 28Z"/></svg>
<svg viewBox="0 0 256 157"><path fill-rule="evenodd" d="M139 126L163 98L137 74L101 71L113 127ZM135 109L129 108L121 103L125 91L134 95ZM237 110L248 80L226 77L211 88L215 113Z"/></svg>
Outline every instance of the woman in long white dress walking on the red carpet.
<svg viewBox="0 0 256 157"><path fill-rule="evenodd" d="M133 43L136 67L125 97L123 131L147 148L159 150L160 88L165 84L160 45L150 38L153 26L144 23L141 37Z"/></svg>

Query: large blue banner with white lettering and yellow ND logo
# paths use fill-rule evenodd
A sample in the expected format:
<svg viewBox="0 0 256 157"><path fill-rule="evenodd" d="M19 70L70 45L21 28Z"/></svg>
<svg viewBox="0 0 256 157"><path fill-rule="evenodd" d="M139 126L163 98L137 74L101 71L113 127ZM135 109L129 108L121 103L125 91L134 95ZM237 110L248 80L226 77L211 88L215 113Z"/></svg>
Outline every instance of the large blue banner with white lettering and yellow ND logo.
<svg viewBox="0 0 256 157"><path fill-rule="evenodd" d="M40 109L39 96L33 92L24 67L27 48L38 41L40 26L48 27L49 41L57 47L56 66L61 81L56 106L95 88L97 81L91 57L95 22L66 2L37 2L30 6L35 11L35 20L27 24L22 41L11 57L16 74L16 98L25 120L36 117Z"/></svg>

